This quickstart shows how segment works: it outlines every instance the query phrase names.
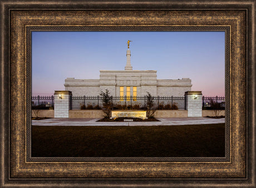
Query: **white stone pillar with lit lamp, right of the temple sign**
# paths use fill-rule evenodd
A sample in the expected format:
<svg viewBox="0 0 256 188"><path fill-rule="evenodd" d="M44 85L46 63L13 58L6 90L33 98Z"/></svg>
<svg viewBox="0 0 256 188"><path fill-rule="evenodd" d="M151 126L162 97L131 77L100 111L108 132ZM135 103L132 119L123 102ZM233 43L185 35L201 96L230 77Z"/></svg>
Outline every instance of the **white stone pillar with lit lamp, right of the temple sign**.
<svg viewBox="0 0 256 188"><path fill-rule="evenodd" d="M188 117L202 116L202 92L189 91L185 92L186 110L188 110Z"/></svg>

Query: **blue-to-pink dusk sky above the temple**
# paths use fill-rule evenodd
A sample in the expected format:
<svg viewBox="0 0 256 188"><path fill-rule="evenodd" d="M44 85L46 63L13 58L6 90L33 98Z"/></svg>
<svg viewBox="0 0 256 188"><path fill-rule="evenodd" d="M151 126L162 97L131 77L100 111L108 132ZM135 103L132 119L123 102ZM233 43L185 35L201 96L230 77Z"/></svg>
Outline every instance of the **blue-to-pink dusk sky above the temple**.
<svg viewBox="0 0 256 188"><path fill-rule="evenodd" d="M124 70L127 40L133 70L190 78L191 90L225 95L225 32L32 32L32 95L65 90L67 77L99 79L99 70Z"/></svg>

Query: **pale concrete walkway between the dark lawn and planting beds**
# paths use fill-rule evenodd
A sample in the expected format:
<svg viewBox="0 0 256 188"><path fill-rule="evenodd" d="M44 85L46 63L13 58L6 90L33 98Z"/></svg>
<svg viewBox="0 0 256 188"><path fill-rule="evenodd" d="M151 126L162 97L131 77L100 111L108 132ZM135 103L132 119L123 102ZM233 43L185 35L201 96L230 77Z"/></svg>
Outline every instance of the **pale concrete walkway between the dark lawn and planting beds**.
<svg viewBox="0 0 256 188"><path fill-rule="evenodd" d="M51 118L32 120L32 125L41 126L157 126L157 125L196 125L225 123L225 118L157 118L160 121L96 122L93 118Z"/></svg>

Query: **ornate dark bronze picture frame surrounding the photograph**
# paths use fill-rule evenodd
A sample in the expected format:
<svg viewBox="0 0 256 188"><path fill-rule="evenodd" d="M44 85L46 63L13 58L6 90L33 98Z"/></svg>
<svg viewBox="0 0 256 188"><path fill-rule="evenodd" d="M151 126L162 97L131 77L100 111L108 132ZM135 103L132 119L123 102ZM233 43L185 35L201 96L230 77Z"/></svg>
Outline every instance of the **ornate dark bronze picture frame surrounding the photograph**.
<svg viewBox="0 0 256 188"><path fill-rule="evenodd" d="M254 1L1 1L2 187L255 187ZM222 157L31 155L32 32L225 32Z"/></svg>

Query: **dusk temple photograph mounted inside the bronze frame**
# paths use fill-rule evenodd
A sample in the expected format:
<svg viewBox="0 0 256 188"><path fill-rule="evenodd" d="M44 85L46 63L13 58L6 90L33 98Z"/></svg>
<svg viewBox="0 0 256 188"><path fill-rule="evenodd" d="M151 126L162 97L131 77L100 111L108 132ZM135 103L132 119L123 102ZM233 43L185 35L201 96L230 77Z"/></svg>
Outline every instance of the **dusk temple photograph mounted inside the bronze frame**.
<svg viewBox="0 0 256 188"><path fill-rule="evenodd" d="M177 27L165 27L162 32L140 27L137 32L80 29L85 31L28 29L33 115L32 128L28 127L31 135L27 135L29 161L38 160L33 157L50 157L49 161L51 157L58 157L58 161L60 157L87 157L83 160L90 161L99 160L97 157L125 161L228 157L225 131L229 124L225 129L224 118L228 28L200 31L198 27L197 32L196 28L183 31ZM172 31L176 29L180 31ZM129 48L127 38L132 39ZM229 58L226 67L229 72ZM65 92L59 92L61 98L56 97L57 88L70 96L65 98ZM106 89L111 108L104 113L101 92ZM204 95L199 99L194 91L200 90ZM184 96L188 91L193 94ZM194 98L187 104L188 96ZM70 104L65 113L64 100ZM196 109L186 108L195 101ZM152 110L147 110L149 104Z"/></svg>

